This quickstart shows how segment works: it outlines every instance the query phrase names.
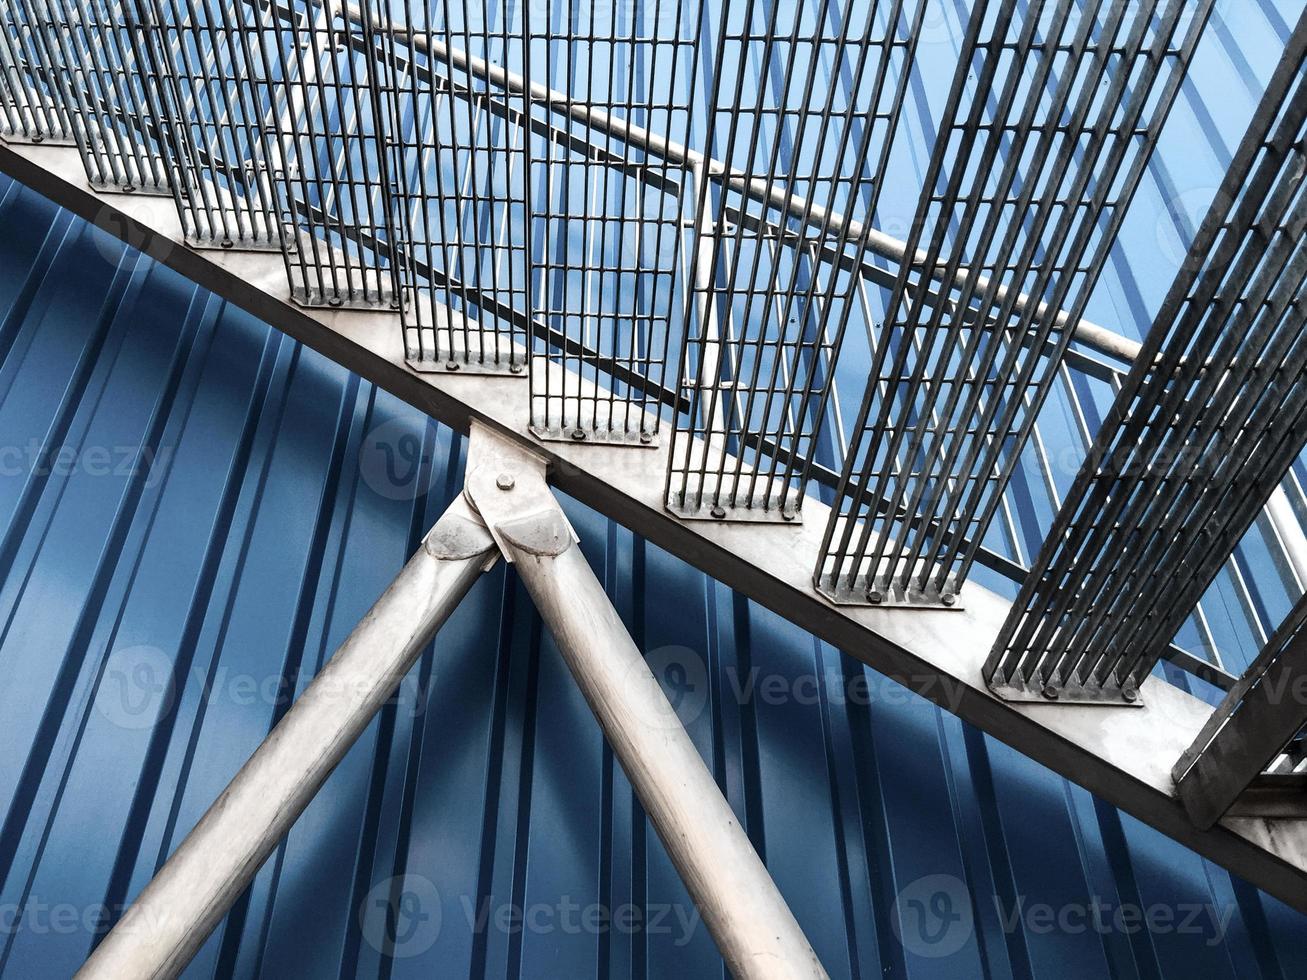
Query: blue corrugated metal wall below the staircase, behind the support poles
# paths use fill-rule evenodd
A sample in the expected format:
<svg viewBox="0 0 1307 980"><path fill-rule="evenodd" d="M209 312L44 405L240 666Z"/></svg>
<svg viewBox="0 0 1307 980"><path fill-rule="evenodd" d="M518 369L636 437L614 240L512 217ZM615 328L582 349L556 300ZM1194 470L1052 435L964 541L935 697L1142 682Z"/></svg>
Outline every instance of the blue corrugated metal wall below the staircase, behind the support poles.
<svg viewBox="0 0 1307 980"><path fill-rule="evenodd" d="M0 971L55 977L399 570L464 444L0 192ZM569 512L833 976L1307 976L1297 913ZM501 567L190 975L721 972Z"/></svg>

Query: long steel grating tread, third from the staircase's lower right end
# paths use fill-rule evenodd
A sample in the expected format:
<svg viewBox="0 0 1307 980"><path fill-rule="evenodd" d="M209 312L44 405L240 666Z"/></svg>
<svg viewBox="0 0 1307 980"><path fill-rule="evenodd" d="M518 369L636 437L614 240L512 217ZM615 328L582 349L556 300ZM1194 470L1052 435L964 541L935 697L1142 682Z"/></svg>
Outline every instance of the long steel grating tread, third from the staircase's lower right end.
<svg viewBox="0 0 1307 980"><path fill-rule="evenodd" d="M836 601L954 601L1210 9L974 8L816 571Z"/></svg>

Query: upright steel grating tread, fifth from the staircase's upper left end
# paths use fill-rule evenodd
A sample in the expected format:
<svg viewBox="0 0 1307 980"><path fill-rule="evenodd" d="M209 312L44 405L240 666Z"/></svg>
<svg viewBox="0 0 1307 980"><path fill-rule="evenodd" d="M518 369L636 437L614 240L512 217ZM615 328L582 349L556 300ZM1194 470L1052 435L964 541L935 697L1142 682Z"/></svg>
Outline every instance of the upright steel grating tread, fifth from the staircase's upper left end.
<svg viewBox="0 0 1307 980"><path fill-rule="evenodd" d="M528 7L417 4L380 25L405 349L417 370L523 372L527 361Z"/></svg>

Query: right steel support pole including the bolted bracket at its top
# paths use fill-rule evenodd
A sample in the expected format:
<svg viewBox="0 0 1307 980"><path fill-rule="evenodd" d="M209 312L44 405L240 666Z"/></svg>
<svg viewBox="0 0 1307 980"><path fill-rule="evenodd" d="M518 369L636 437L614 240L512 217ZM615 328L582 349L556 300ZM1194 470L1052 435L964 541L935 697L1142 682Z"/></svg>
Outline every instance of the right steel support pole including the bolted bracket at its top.
<svg viewBox="0 0 1307 980"><path fill-rule="evenodd" d="M825 977L580 553L544 460L476 423L468 460L467 497L535 600L731 973Z"/></svg>

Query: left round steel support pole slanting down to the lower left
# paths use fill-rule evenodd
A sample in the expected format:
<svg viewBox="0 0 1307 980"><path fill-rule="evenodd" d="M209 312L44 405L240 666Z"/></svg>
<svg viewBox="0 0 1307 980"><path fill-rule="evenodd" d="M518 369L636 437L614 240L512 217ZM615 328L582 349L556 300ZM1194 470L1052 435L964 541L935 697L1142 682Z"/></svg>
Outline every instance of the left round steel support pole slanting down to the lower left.
<svg viewBox="0 0 1307 980"><path fill-rule="evenodd" d="M485 525L455 500L77 977L180 973L498 557Z"/></svg>

